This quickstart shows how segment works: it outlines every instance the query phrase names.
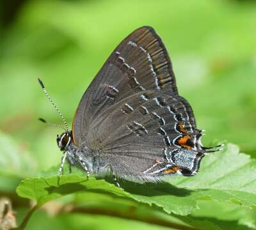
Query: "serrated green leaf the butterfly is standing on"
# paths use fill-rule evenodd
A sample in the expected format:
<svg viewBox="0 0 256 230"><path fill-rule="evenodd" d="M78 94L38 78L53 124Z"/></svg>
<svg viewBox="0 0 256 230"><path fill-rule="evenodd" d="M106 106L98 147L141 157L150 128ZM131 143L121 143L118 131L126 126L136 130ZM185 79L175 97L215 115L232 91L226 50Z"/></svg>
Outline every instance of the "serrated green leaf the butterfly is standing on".
<svg viewBox="0 0 256 230"><path fill-rule="evenodd" d="M214 153L202 161L202 169L195 177L175 176L170 183L122 183L124 190L105 180L77 174L28 178L17 188L21 197L33 199L39 205L74 192L97 192L163 208L166 213L188 215L199 200L216 200L256 205L256 162L239 153L233 144L225 151Z"/></svg>

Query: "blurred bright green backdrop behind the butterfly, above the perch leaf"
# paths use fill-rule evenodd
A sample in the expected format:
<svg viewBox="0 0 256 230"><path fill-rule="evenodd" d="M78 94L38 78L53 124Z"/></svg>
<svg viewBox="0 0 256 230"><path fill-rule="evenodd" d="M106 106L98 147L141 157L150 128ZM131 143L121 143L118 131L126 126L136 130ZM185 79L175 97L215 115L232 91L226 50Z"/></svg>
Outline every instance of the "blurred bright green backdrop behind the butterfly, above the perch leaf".
<svg viewBox="0 0 256 230"><path fill-rule="evenodd" d="M61 130L37 119L61 119L37 77L71 127L84 90L109 54L145 25L168 49L179 93L206 130L203 143L234 142L256 157L255 1L1 1L0 162L6 171L22 178L60 164L55 139Z"/></svg>

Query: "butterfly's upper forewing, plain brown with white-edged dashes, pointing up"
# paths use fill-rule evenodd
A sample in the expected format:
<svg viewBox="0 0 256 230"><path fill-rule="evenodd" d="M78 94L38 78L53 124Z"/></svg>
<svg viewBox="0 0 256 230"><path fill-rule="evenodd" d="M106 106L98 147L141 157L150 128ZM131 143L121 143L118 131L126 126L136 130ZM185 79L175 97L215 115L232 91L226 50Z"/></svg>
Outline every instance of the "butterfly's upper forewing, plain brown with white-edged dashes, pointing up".
<svg viewBox="0 0 256 230"><path fill-rule="evenodd" d="M113 51L84 93L72 125L79 146L92 121L117 102L142 91L177 95L172 63L152 27L136 29Z"/></svg>

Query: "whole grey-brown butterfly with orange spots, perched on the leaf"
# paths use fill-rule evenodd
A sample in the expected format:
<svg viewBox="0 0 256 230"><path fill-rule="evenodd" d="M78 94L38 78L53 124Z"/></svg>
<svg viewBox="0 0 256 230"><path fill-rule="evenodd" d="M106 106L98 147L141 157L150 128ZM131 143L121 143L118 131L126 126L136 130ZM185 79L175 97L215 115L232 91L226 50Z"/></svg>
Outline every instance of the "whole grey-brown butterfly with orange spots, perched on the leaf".
<svg viewBox="0 0 256 230"><path fill-rule="evenodd" d="M156 182L194 176L202 158L220 150L202 146L202 130L178 93L167 50L152 27L136 29L112 52L86 89L71 131L52 104L65 123L57 136L64 153L59 174L67 161L70 171L79 167L88 177Z"/></svg>

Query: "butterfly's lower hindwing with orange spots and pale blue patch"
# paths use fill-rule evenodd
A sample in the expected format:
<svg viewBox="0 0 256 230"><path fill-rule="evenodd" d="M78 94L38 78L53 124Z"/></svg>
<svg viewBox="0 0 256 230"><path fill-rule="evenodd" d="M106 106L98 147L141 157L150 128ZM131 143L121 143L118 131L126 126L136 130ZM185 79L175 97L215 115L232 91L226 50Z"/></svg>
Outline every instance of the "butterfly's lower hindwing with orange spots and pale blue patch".
<svg viewBox="0 0 256 230"><path fill-rule="evenodd" d="M93 121L88 148L102 153L120 176L154 181L178 172L195 174L205 153L201 135L184 98L143 91Z"/></svg>

